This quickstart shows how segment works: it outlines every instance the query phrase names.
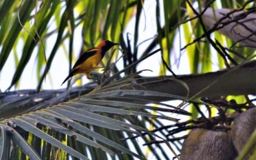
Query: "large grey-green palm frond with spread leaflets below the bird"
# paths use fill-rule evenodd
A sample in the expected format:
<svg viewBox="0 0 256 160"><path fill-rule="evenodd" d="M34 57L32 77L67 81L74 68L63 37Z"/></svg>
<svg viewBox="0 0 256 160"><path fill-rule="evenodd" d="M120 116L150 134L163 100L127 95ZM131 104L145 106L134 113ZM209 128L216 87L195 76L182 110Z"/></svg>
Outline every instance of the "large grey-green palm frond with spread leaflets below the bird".
<svg viewBox="0 0 256 160"><path fill-rule="evenodd" d="M29 144L26 142L26 140L24 140L24 138L17 131L14 131L14 129L20 132L29 132L30 134L37 136L41 140L44 140L52 144L53 146L56 146L57 148L60 148L65 152L67 152L68 154L75 156L77 158L85 159L86 157L84 157L79 152L73 150L72 148L65 146L64 144L61 143L61 141L46 134L45 132L40 130L40 128L48 127L50 130L54 130L55 132L65 134L70 137L75 137L77 141L82 142L86 146L101 148L102 150L104 150L105 152L108 152L112 156L114 155L114 152L111 151L111 149L109 150L104 146L111 146L113 148L120 150L120 152L131 154L132 156L135 156L137 158L144 159L142 156L139 156L138 154L131 152L130 150L124 148L123 146L119 145L116 142L112 142L111 140L108 140L107 137L104 137L94 132L93 129L91 129L91 128L94 128L94 126L98 126L101 128L106 128L108 130L109 129L116 130L116 132L125 131L125 132L131 132L135 134L140 134L140 132L147 132L146 128L135 126L132 124L133 122L130 122L131 124L124 122L124 120L130 121L129 119L126 119L126 118L123 119L120 117L121 121L115 120L113 118L109 118L108 114L106 113L116 114L117 116L124 115L124 117L125 115L132 115L134 120L135 120L135 116L146 116L151 118L166 118L168 120L176 121L176 118L171 118L171 117L166 117L161 115L152 115L146 112L132 111L130 109L131 106L132 108L143 108L144 105L142 104L128 103L128 102L116 103L112 100L108 100L109 98L112 98L112 96L118 96L122 99L123 95L127 95L127 96L133 95L134 93L136 94L137 92L140 92L141 96L148 96L148 95L161 96L160 93L150 92L146 90L144 91L119 90L118 92L112 92L110 94L108 92L102 92L100 88L97 88L95 93L94 91L92 91L90 94L81 96L80 98L76 98L68 102L64 102L54 106L36 110L35 112L28 112L27 114L22 114L21 116L16 116L15 118L3 119L1 122L1 126L2 128L8 128L7 131L3 129L4 132L6 132L6 134L12 138L13 142L18 145L18 148L20 148L22 152L27 154L30 158L33 158L34 156L38 156L38 153L35 150L33 150L31 147L29 147L31 149L28 152L27 150L28 148L25 147L24 145L28 146ZM162 96L168 96L168 94L164 94ZM172 97L172 95L169 95L169 96ZM99 100L101 98L104 98L105 104L103 102L101 102L100 104L97 103L97 102L100 102ZM22 100L24 101L24 99ZM89 104L86 103L87 100ZM127 108L129 104L131 106ZM160 108L150 107L150 106L144 106L144 108L148 108L151 110L154 110L154 109L161 110ZM164 110L164 111L168 111L168 110ZM183 112L184 114L188 114L187 112L182 110L180 112L181 113ZM102 114L102 113L105 113L105 114ZM90 126L90 128L82 126L78 122L86 123ZM89 136L96 141L92 141L84 137L83 134L80 134L80 133L83 133L86 135L86 137ZM120 132L119 134L121 133L122 132ZM6 134L2 134L3 139L6 138L6 136L4 136ZM20 143L20 141L22 143ZM102 142L104 146L102 146L101 144L98 144L97 143L98 141ZM11 148L9 148L9 152L10 152L10 149Z"/></svg>

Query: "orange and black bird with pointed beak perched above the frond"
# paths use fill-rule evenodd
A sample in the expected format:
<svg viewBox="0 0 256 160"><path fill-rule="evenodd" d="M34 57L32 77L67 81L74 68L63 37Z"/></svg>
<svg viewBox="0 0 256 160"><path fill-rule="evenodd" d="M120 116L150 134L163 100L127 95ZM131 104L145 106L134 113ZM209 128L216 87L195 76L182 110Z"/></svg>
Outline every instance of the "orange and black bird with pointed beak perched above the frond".
<svg viewBox="0 0 256 160"><path fill-rule="evenodd" d="M90 78L90 73L94 68L97 68L98 64L104 57L105 53L112 47L118 45L118 43L113 43L109 40L104 40L96 48L91 48L84 52L80 58L76 61L70 74L63 81L64 84L70 77L75 74L86 74L86 77ZM61 85L62 85L61 84Z"/></svg>

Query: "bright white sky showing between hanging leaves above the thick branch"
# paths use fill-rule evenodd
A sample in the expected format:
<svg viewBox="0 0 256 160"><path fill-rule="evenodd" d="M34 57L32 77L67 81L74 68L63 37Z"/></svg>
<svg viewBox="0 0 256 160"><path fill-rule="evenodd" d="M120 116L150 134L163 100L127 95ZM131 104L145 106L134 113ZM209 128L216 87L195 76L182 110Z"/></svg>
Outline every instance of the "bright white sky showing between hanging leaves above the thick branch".
<svg viewBox="0 0 256 160"><path fill-rule="evenodd" d="M160 7L162 8L162 1L160 1ZM148 39L153 38L156 35L156 17L155 17L155 8L156 8L156 1L155 0L146 0L144 3L144 14L140 18L140 26L139 26L139 37L138 37L138 43ZM164 19L163 19L163 10L161 9L161 26L164 26ZM51 22L53 19L51 20ZM132 34L134 33L134 24L135 24L135 17L132 17L130 22L128 23L124 34L130 33L130 39L133 43ZM50 31L54 30L56 28L55 23L52 23L50 26ZM78 26L76 30L74 31L74 45L73 45L73 53L74 57L77 59L80 54L80 47L82 46L82 38L80 37L82 31L82 26ZM50 52L54 46L54 42L57 38L57 33L53 34L50 38L48 38L48 42L45 46L46 48L46 56L49 57ZM176 40L176 43L179 43L178 38ZM144 51L144 48L150 44L150 40L147 42L144 42L140 45L138 49L138 56L140 56L140 53ZM58 49L56 56L54 57L54 60L52 62L52 66L50 68L50 74L47 75L46 81L43 82L42 88L43 89L58 89L63 88L66 85L60 86L62 84L63 80L68 76L68 58L67 54L65 54L64 50L68 50L68 39L64 41L64 45ZM18 54L18 58L22 55L22 48L23 48L23 40L18 41L18 45L16 48L16 52ZM64 46L66 46L64 48ZM156 47L156 49L159 48ZM31 89L36 88L37 86L37 76L36 76L36 68L37 68L37 57L38 48L36 48L33 53L30 61L28 62L24 72L22 73L22 77L20 79L20 85L18 87L19 90L21 89ZM175 63L175 60L177 59L179 53L179 45L175 45L174 50L172 51L172 63ZM182 56L182 59L187 59L186 55ZM181 60L182 61L182 60ZM188 60L185 60L188 61ZM138 65L138 70L143 69L150 69L153 72L144 72L142 73L142 76L158 76L160 68L158 67L161 63L160 58L160 52L159 54L155 54L151 56L150 58L144 60L142 63ZM74 64L74 62L73 62ZM118 62L118 66L122 67L122 61ZM16 70L15 62L14 62L14 51L10 53L10 56L7 59L6 64L4 65L4 68L2 69L0 73L0 88L2 91L5 91L9 86L10 82L12 80L12 76L14 75L14 72ZM179 68L173 68L174 71L176 71L178 74L189 74L189 66L188 63L182 64ZM89 82L85 77L82 78L83 83ZM12 87L12 90L15 88Z"/></svg>

